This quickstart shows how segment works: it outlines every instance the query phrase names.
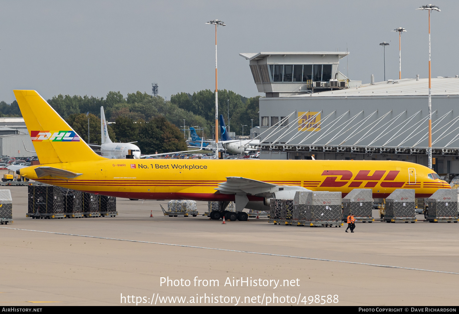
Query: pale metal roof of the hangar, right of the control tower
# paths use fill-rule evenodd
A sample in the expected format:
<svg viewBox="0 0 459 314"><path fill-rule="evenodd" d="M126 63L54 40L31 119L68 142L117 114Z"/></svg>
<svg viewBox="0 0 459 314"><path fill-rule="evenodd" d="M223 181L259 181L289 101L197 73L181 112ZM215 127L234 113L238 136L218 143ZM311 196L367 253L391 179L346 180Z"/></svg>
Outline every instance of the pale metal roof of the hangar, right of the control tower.
<svg viewBox="0 0 459 314"><path fill-rule="evenodd" d="M342 96L420 96L428 95L429 79L397 79L363 84L360 87L343 90L323 91L312 95L290 97L342 97ZM459 78L434 78L432 95L459 95Z"/></svg>

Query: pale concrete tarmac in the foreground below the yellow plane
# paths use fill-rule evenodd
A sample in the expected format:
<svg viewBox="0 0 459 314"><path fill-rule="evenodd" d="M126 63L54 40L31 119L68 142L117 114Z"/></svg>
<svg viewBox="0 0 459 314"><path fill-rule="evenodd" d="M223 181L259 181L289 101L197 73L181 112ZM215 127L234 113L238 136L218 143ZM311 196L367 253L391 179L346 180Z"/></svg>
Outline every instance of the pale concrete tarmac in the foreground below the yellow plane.
<svg viewBox="0 0 459 314"><path fill-rule="evenodd" d="M459 224L375 221L358 223L352 234L344 232L346 225L283 226L268 219L224 225L202 216L165 217L159 204L166 208L167 201L126 199L117 200L115 218L30 219L27 187L9 188L14 223L0 226L1 306L179 304L164 297L183 297L185 305L233 306L237 297L237 305L269 300L268 305L309 306L311 298L311 306L459 303ZM198 204L200 213L207 210L207 202ZM166 286L161 277L183 280ZM233 277L248 277L249 286L233 286ZM198 280L218 280L218 286ZM316 295L325 301L315 303Z"/></svg>

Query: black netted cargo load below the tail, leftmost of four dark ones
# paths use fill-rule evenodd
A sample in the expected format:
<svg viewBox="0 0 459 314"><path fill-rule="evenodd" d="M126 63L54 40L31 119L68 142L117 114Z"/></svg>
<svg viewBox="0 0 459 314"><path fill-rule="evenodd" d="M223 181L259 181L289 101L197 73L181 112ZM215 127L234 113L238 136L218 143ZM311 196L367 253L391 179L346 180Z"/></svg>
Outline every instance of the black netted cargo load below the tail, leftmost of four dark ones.
<svg viewBox="0 0 459 314"><path fill-rule="evenodd" d="M65 200L58 186L29 185L28 211L26 217L32 218L64 218Z"/></svg>

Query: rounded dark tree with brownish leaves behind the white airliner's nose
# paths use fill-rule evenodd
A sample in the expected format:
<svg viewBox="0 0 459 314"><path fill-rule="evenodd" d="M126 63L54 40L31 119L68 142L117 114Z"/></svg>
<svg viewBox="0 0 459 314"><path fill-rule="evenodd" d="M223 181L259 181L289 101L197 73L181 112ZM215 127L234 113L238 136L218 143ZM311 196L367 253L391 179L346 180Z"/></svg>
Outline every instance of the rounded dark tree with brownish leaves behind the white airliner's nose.
<svg viewBox="0 0 459 314"><path fill-rule="evenodd" d="M163 116L151 118L148 122L140 123L140 151L144 154L185 151L187 149L182 132L168 122Z"/></svg>

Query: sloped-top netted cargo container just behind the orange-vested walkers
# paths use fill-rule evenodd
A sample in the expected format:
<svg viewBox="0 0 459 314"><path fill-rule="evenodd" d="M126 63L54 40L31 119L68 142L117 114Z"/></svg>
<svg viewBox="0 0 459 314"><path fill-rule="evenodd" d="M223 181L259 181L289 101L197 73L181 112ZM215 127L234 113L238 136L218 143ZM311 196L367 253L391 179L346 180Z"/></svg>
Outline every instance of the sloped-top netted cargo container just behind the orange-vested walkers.
<svg viewBox="0 0 459 314"><path fill-rule="evenodd" d="M356 221L373 222L373 191L371 189L353 189L342 199L343 221L347 221L349 214L354 215Z"/></svg>

